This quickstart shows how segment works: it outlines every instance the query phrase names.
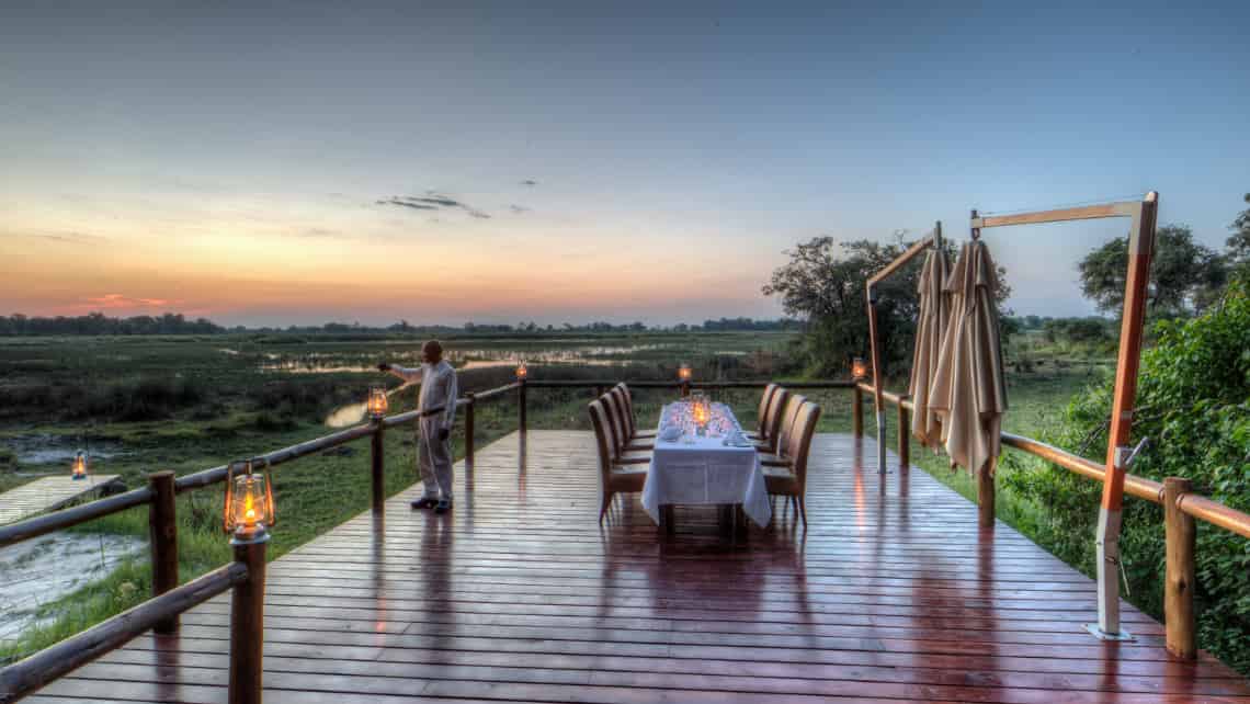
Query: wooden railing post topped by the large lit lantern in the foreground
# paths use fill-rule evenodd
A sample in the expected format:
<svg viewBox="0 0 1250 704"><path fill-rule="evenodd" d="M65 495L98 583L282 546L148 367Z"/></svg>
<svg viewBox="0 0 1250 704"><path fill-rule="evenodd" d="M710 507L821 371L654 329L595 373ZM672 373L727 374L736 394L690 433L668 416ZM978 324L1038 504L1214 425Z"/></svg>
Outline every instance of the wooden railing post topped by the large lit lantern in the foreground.
<svg viewBox="0 0 1250 704"><path fill-rule="evenodd" d="M248 579L230 600L230 704L261 704L265 653L265 541L234 544Z"/></svg>

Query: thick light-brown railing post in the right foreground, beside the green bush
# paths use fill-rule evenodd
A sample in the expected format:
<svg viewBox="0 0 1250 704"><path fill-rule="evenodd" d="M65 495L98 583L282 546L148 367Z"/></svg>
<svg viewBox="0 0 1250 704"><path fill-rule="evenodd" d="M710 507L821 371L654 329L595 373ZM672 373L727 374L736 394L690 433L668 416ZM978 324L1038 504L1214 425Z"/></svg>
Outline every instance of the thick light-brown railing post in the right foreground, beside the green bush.
<svg viewBox="0 0 1250 704"><path fill-rule="evenodd" d="M1164 621L1168 650L1185 660L1198 658L1198 629L1194 619L1195 546L1194 516L1180 510L1180 498L1194 483L1179 476L1164 479L1164 528L1168 540L1168 570L1164 579Z"/></svg>

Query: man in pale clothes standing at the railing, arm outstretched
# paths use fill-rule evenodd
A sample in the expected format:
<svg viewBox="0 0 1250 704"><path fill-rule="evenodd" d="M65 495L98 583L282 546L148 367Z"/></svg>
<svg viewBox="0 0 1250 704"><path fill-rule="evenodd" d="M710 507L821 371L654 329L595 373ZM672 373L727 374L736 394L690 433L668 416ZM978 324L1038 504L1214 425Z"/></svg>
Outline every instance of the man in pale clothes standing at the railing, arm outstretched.
<svg viewBox="0 0 1250 704"><path fill-rule="evenodd" d="M421 393L416 409L416 464L425 483L425 496L412 501L414 509L434 506L436 513L451 509L451 424L456 415L456 370L442 359L442 345L430 340L421 345L421 366L409 369L381 363L380 371L390 371L405 381L420 381Z"/></svg>

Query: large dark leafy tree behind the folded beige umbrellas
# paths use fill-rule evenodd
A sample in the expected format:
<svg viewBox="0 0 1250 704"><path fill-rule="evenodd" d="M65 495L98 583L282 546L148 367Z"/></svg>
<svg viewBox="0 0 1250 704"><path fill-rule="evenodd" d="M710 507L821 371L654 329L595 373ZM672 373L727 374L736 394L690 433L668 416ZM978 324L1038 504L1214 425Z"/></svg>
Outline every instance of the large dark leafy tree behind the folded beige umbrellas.
<svg viewBox="0 0 1250 704"><path fill-rule="evenodd" d="M858 240L842 243L841 253L838 253L832 238L819 236L785 253L790 261L772 273L764 285L764 295L781 296L781 306L788 315L806 320L805 345L811 374L842 374L852 358L868 356L870 341L864 285L869 276L911 244L902 236L889 244ZM946 250L954 258L951 243L946 243ZM888 374L906 369L911 360L912 335L920 313L916 285L922 260L916 258L879 286L878 329L881 363ZM1001 266L995 300L1001 313L1002 301L1011 290Z"/></svg>

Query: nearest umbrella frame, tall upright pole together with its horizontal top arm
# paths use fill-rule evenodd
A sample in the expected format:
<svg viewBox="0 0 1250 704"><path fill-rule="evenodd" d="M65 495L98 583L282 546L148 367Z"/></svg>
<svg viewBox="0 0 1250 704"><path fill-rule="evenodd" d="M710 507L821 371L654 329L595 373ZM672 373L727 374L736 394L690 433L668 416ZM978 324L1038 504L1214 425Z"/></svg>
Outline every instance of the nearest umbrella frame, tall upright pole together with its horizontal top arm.
<svg viewBox="0 0 1250 704"><path fill-rule="evenodd" d="M1150 191L1141 200L1124 200L1041 210L1015 215L979 216L972 211L972 239L986 228L1034 225L1102 218L1131 218L1129 229L1129 268L1125 279L1124 308L1120 315L1120 351L1115 366L1115 395L1111 401L1110 434L1106 448L1106 474L1102 480L1102 501L1098 521L1098 624L1090 624L1094 635L1106 640L1128 640L1131 635L1120 628L1120 510L1124 504L1124 478L1141 444L1130 445L1132 410L1138 395L1138 370L1141 365L1141 333L1146 318L1146 285L1150 280L1150 259L1155 246L1155 220L1159 194ZM1144 441L1142 441L1144 443Z"/></svg>

